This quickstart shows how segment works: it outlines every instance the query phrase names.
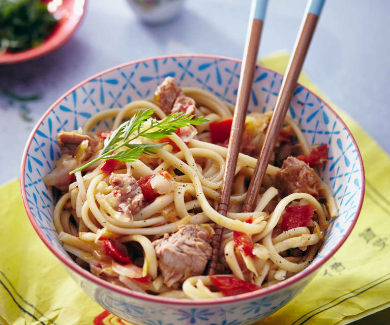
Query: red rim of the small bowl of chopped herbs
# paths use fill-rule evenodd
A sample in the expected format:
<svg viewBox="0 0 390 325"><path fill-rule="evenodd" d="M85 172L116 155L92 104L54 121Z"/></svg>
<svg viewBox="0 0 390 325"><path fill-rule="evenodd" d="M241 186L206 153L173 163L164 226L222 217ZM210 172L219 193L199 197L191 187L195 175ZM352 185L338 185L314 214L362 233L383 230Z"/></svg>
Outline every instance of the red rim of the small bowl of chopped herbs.
<svg viewBox="0 0 390 325"><path fill-rule="evenodd" d="M74 0L74 1L76 2L78 0ZM5 55L0 54L0 66L34 60L35 58L39 58L41 56L49 54L54 50L56 50L57 48L63 46L65 43L67 43L70 40L70 38L76 32L76 29L80 25L81 21L83 20L83 17L85 16L86 3L87 0L84 0L82 14L78 17L77 21L73 23L72 27L68 31L66 31L66 33L58 34L58 31L54 31L48 36L46 40L44 40L42 44L38 45L37 47L32 47L25 51L21 51L17 53L7 52ZM69 18L67 19L69 20ZM50 40L56 39L56 40L51 45L47 45L46 42L49 39Z"/></svg>

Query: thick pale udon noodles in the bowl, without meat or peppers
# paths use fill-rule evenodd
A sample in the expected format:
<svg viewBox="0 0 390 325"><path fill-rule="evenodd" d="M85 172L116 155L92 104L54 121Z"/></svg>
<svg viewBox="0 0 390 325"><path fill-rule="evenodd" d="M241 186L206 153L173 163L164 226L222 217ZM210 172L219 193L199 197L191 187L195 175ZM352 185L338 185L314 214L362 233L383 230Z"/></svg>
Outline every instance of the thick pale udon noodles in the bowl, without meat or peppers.
<svg viewBox="0 0 390 325"><path fill-rule="evenodd" d="M229 107L214 95L198 88L183 88L186 96L192 97L197 105L199 114L211 122L220 122L232 116ZM123 120L129 119L140 109L155 110L156 119L163 119L165 113L155 104L145 100L131 102L124 108L114 108L95 114L84 127L87 134L99 121L115 118L112 129L117 128ZM271 116L272 112L265 115ZM286 117L285 123L294 131L302 151L308 155L311 151L299 126ZM266 287L302 271L315 257L323 233L328 226L329 218L337 215L337 208L329 188L322 182L322 193L326 199L327 209L315 197L307 193L293 193L282 199L278 198L275 188L275 174L280 168L268 165L263 182L260 199L253 213L228 212L227 216L220 215L216 210L219 199L219 188L227 149L224 146L209 143L208 126L197 126L198 137L188 145L176 134L169 139L176 143L180 151L174 153L171 145L165 145L144 160L129 163L132 175L138 179L163 170L179 170L181 175L174 176L173 191L157 197L151 204L142 208L134 215L133 220L123 218L111 204L112 186L109 175L96 165L93 171L85 174L76 173L76 181L69 186L57 202L53 220L59 233L59 240L64 248L76 256L79 264L92 264L98 261L96 254L97 240L103 236L115 238L118 242L137 242L143 251L143 276L150 276L152 282L142 286L126 276L119 275L114 283L137 291L153 292L167 297L182 298L216 298L222 297L221 292L210 289L211 280L208 276L195 276L186 279L181 289L167 287L162 275L159 274L158 260L151 239L154 235L172 233L183 224L216 223L225 230L220 249L220 258L225 255L231 276ZM204 132L203 132L204 131ZM143 139L143 141L149 141ZM151 169L145 161L157 159L158 166ZM196 161L205 161L202 168ZM246 179L253 174L257 160L253 157L239 154L233 194L230 198L232 205L243 203L246 195ZM126 173L127 170L116 170L116 173ZM273 236L273 230L285 207L290 202L297 204L312 204L315 217L307 227L297 227L283 231ZM167 212L174 215L169 221ZM197 211L197 213L195 213ZM73 219L72 219L73 216ZM245 220L253 216L253 223ZM175 221L176 219L176 221ZM315 220L315 221L314 221ZM233 231L244 232L251 236L254 243L255 257L246 256L235 248ZM287 250L301 248L303 256L286 256ZM113 263L112 272L118 272L121 265ZM120 271L120 270L119 270Z"/></svg>

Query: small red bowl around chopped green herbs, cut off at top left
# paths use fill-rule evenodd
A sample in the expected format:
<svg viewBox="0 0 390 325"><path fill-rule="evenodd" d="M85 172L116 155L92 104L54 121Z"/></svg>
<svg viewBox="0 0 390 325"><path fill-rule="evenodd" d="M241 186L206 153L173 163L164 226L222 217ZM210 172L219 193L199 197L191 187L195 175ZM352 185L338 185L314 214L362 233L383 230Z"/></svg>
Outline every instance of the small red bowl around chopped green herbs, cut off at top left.
<svg viewBox="0 0 390 325"><path fill-rule="evenodd" d="M48 54L64 45L76 31L85 13L86 0L45 1L49 12L58 19L57 25L42 44L28 50L0 54L0 65L20 63Z"/></svg>

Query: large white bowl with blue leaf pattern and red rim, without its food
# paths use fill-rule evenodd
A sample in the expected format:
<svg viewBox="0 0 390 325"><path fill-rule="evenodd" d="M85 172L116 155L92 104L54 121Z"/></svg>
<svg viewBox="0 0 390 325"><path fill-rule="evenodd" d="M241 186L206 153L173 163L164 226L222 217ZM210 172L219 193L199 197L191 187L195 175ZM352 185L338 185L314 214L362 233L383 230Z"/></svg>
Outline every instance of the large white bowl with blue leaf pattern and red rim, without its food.
<svg viewBox="0 0 390 325"><path fill-rule="evenodd" d="M59 157L56 134L82 126L102 109L123 107L153 95L167 76L180 86L196 86L233 104L241 61L209 55L169 55L126 63L103 71L73 87L41 117L29 137L21 164L20 184L25 210L34 229L64 264L70 276L103 308L135 324L249 324L287 304L322 264L336 253L351 232L362 207L365 176L362 157L340 116L321 98L297 85L288 114L298 122L311 144L327 143L329 159L320 171L333 189L339 215L325 233L322 249L302 272L285 281L238 296L183 300L152 296L110 284L79 267L57 240L52 222L54 191L42 177ZM282 75L256 67L250 111L274 108ZM107 122L107 121L106 121ZM108 121L107 123L109 123ZM98 128L107 128L101 123Z"/></svg>

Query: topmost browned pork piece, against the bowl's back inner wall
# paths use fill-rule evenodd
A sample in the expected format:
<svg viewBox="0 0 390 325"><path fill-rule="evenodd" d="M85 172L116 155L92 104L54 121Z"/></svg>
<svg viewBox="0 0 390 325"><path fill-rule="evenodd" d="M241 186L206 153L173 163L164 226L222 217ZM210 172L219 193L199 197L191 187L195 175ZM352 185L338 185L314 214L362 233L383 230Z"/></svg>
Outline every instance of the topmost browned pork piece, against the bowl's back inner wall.
<svg viewBox="0 0 390 325"><path fill-rule="evenodd" d="M155 103L168 115L179 95L183 95L182 89L176 85L172 77L166 77L156 89Z"/></svg>

